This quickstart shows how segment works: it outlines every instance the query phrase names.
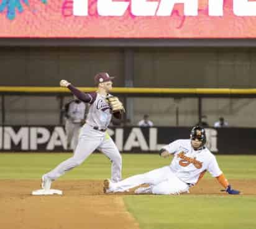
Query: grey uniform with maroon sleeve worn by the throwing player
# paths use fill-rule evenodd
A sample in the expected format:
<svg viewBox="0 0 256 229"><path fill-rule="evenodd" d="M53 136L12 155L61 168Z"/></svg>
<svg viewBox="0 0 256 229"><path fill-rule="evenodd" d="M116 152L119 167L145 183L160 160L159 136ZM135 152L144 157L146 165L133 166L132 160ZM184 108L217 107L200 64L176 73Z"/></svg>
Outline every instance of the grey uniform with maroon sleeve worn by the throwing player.
<svg viewBox="0 0 256 229"><path fill-rule="evenodd" d="M45 176L52 180L59 178L66 171L83 163L94 150L98 149L111 160L111 181L120 181L122 158L114 141L106 132L112 117L111 108L105 100L106 97L96 92L80 92L73 85L69 85L68 89L81 101L89 103L86 123L81 128L78 145L73 157L60 163L60 165L45 174ZM121 117L120 113L115 113L114 115Z"/></svg>

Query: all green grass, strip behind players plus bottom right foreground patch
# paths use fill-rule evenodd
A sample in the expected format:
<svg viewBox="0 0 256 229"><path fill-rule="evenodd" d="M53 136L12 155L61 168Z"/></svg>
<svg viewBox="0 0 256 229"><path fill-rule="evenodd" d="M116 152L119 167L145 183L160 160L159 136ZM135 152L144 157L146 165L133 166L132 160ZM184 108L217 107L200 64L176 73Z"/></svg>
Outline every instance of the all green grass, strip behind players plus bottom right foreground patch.
<svg viewBox="0 0 256 229"><path fill-rule="evenodd" d="M0 153L0 179L39 179L43 173L71 157L71 153ZM157 154L122 154L123 177L168 165L170 159ZM217 155L228 179L255 179L256 156ZM60 179L104 179L110 177L110 162L94 153L82 165ZM208 174L206 179L213 179ZM204 178L204 179L205 179ZM127 209L141 229L254 229L255 196L123 196Z"/></svg>

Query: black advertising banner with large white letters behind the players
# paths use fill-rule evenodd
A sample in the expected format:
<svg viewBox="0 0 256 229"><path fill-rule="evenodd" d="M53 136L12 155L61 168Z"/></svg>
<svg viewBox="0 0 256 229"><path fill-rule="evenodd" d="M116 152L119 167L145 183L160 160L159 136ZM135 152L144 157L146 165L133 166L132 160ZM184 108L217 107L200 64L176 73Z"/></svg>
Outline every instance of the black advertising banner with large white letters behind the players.
<svg viewBox="0 0 256 229"><path fill-rule="evenodd" d="M189 127L115 127L107 130L121 152L157 153L173 140L188 139ZM256 154L255 128L206 128L213 153ZM67 152L63 126L0 126L0 152Z"/></svg>

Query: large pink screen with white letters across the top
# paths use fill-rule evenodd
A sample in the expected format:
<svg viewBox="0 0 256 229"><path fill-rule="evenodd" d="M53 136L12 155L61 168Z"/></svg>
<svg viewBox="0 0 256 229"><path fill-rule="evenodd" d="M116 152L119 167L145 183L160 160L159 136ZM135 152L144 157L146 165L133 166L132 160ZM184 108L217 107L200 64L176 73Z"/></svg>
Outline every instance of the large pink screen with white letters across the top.
<svg viewBox="0 0 256 229"><path fill-rule="evenodd" d="M0 0L0 37L256 38L256 0Z"/></svg>

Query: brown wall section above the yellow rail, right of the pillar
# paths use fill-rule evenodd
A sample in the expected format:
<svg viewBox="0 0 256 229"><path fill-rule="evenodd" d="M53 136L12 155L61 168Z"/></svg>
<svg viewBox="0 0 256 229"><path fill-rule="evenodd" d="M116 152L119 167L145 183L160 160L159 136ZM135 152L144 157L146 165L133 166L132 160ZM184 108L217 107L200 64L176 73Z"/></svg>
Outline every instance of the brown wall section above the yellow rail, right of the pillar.
<svg viewBox="0 0 256 229"><path fill-rule="evenodd" d="M256 50L139 49L137 87L256 87Z"/></svg>

